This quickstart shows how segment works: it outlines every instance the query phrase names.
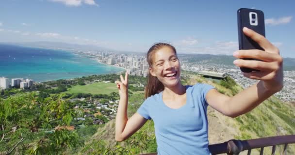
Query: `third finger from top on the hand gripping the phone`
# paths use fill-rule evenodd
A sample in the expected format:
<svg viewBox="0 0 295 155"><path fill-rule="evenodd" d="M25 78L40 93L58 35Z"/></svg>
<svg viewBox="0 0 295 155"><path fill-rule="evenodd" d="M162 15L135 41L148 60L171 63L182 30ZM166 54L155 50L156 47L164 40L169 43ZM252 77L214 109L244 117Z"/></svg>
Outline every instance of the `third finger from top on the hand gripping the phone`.
<svg viewBox="0 0 295 155"><path fill-rule="evenodd" d="M276 62L262 62L255 60L242 60L237 59L233 63L238 67L252 68L262 71L275 71L280 68L279 64Z"/></svg>

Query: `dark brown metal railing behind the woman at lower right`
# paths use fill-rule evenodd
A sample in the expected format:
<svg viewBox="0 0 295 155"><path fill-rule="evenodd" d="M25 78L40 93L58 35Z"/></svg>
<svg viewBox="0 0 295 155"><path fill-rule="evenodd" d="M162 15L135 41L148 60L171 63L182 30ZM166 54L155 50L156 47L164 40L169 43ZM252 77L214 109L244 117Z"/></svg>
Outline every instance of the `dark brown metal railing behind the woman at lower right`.
<svg viewBox="0 0 295 155"><path fill-rule="evenodd" d="M239 155L245 150L248 150L247 155L251 155L252 149L260 148L260 155L263 155L264 147L272 146L271 155L275 155L276 145L284 145L283 155L287 155L288 144L292 143L295 143L295 135L275 136L253 140L229 140L224 143L209 145L209 150L212 155ZM157 153L145 155L157 155Z"/></svg>

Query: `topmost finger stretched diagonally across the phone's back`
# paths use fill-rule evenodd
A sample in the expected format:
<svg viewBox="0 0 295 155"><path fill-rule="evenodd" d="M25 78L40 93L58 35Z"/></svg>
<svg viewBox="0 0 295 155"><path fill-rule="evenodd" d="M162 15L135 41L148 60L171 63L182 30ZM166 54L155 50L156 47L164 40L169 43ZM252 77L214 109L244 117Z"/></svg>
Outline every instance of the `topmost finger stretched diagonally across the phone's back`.
<svg viewBox="0 0 295 155"><path fill-rule="evenodd" d="M253 39L255 42L257 42L265 51L279 54L279 49L272 45L264 36L261 34L248 29L246 27L243 28L243 32L246 36Z"/></svg>

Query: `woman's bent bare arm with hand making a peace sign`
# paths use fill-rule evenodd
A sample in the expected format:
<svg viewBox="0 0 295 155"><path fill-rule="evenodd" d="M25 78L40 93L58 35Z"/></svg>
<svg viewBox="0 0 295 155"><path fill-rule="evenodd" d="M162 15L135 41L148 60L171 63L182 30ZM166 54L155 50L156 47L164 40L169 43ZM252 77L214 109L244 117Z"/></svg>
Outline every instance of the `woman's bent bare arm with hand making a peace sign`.
<svg viewBox="0 0 295 155"><path fill-rule="evenodd" d="M118 105L115 121L115 140L123 141L132 136L148 120L139 115L137 112L128 119L128 72L126 71L125 79L120 75L121 81L115 81L119 89L120 101Z"/></svg>

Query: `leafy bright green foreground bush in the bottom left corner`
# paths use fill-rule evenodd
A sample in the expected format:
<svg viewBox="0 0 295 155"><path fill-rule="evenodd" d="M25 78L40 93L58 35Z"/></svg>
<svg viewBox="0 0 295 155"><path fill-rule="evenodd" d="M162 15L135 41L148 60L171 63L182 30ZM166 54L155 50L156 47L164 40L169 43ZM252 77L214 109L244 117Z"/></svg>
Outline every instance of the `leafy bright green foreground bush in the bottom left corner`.
<svg viewBox="0 0 295 155"><path fill-rule="evenodd" d="M0 99L0 154L55 155L82 146L69 126L81 113L61 95L18 93Z"/></svg>

